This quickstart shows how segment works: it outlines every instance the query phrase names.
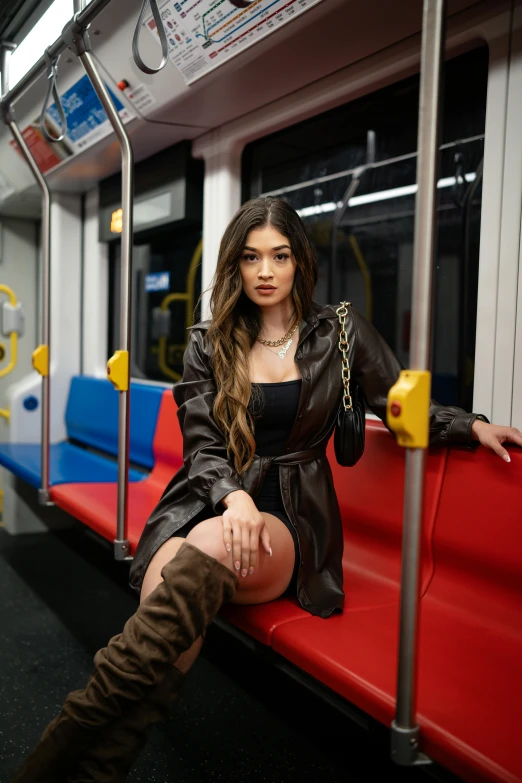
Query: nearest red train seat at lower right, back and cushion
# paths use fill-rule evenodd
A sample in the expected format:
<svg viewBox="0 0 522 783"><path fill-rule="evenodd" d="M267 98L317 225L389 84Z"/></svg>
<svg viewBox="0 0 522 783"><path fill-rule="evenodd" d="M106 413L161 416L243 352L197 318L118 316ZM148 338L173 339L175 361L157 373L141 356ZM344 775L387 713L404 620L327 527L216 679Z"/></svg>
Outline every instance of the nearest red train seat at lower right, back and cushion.
<svg viewBox="0 0 522 783"><path fill-rule="evenodd" d="M520 783L522 454L452 450L421 602L418 720L465 780ZM426 590L427 588L427 590ZM383 723L395 705L398 607L278 627L272 647Z"/></svg>

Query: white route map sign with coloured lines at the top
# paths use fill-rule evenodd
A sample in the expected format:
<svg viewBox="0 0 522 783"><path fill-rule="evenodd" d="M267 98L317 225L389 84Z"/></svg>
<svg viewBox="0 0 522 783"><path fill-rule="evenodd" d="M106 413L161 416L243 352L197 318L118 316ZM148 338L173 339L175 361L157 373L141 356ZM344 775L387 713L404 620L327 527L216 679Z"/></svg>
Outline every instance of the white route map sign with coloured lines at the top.
<svg viewBox="0 0 522 783"><path fill-rule="evenodd" d="M169 57L187 84L295 19L321 0L164 0ZM147 29L159 42L156 22Z"/></svg>

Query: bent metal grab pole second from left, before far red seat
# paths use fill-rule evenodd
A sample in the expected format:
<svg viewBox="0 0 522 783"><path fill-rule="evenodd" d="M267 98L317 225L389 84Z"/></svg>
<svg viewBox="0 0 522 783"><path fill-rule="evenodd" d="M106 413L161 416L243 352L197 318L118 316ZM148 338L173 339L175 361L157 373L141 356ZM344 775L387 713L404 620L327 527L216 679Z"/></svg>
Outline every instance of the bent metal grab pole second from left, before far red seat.
<svg viewBox="0 0 522 783"><path fill-rule="evenodd" d="M129 369L131 338L131 271L132 271L132 210L134 196L134 155L129 136L114 106L103 79L98 73L90 52L87 30L79 23L77 16L63 31L62 37L69 48L81 60L91 80L107 117L116 133L121 149L122 164L122 233L120 274L120 350L109 359L107 375L119 391L118 407L118 516L114 557L116 560L130 558L127 537L127 493L129 475Z"/></svg>

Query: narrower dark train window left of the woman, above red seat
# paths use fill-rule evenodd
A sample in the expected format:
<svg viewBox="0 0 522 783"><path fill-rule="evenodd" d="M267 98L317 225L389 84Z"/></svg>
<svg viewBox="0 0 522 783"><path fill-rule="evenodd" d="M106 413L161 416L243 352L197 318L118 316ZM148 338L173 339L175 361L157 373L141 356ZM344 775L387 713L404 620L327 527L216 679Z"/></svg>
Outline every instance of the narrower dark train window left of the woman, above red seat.
<svg viewBox="0 0 522 783"><path fill-rule="evenodd" d="M183 374L187 327L201 293L203 163L190 142L135 167L131 377L171 383ZM100 185L100 239L109 241L109 355L120 347L121 179ZM196 311L199 320L199 311Z"/></svg>

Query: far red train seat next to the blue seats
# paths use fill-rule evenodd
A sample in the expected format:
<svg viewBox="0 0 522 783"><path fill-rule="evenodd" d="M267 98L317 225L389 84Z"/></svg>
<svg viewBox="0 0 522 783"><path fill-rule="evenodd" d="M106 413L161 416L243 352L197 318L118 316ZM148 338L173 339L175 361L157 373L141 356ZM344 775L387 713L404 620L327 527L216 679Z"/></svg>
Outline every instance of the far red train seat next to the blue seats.
<svg viewBox="0 0 522 783"><path fill-rule="evenodd" d="M147 518L172 475L183 462L183 441L172 392L161 396L154 440L154 467L136 484L129 484L128 536L131 554L136 551ZM51 488L51 499L68 514L79 519L109 541L116 535L117 489L105 484L60 484Z"/></svg>

